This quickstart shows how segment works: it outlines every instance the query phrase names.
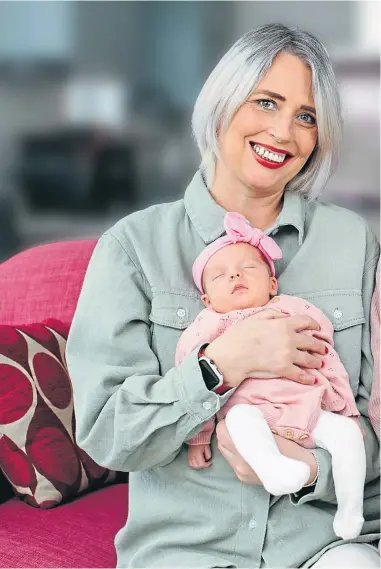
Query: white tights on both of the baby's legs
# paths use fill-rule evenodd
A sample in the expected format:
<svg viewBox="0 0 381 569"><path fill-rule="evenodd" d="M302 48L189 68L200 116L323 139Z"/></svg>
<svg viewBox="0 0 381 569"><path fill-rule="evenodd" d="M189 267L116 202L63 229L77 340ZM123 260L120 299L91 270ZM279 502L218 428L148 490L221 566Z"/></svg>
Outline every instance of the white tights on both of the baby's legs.
<svg viewBox="0 0 381 569"><path fill-rule="evenodd" d="M310 477L308 465L281 454L258 407L235 405L227 412L225 422L238 452L270 494L291 494L306 484ZM361 431L352 419L321 411L312 436L316 446L326 449L332 456L337 498L334 532L342 539L357 537L364 523L366 471Z"/></svg>

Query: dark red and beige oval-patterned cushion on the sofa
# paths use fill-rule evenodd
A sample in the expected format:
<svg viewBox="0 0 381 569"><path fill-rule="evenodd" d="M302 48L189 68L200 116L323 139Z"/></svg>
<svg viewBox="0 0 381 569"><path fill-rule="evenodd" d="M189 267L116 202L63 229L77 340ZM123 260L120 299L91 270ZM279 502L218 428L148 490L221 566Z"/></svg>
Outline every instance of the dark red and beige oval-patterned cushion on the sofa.
<svg viewBox="0 0 381 569"><path fill-rule="evenodd" d="M75 444L68 328L53 319L0 326L0 467L17 495L44 509L116 477Z"/></svg>

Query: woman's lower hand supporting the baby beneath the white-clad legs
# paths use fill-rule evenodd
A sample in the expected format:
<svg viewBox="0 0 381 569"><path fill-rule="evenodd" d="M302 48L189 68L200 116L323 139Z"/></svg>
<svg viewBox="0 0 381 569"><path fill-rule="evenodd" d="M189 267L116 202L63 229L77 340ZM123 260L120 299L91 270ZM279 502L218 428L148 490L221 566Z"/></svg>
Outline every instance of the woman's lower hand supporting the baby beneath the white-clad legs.
<svg viewBox="0 0 381 569"><path fill-rule="evenodd" d="M226 461L230 464L238 480L246 484L259 484L262 485L261 480L258 478L254 470L247 464L247 462L238 453L234 446L229 432L226 428L225 421L219 421L216 427L218 450ZM317 463L314 455L308 449L301 447L294 441L284 439L278 435L274 435L275 441L278 445L280 452L289 458L295 458L305 462L310 467L310 477L306 484L311 484L317 474Z"/></svg>

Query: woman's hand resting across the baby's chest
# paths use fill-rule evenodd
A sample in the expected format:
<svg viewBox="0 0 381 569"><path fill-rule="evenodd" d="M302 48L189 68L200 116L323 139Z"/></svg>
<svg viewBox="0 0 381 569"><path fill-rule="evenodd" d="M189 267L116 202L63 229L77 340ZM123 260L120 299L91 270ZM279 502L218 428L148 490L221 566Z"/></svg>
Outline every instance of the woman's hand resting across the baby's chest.
<svg viewBox="0 0 381 569"><path fill-rule="evenodd" d="M288 316L267 309L254 314L211 342L205 355L216 362L227 387L237 387L247 377L284 377L314 383L306 368L322 366L324 342L304 330L320 330L310 316Z"/></svg>

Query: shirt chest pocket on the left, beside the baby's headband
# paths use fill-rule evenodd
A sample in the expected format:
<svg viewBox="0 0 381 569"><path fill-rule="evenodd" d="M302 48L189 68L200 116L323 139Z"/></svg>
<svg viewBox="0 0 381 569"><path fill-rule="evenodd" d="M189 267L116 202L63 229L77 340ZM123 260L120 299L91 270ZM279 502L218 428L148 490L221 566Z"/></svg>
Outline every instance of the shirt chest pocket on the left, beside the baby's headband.
<svg viewBox="0 0 381 569"><path fill-rule="evenodd" d="M162 375L175 365L177 342L203 308L200 296L195 291L152 289L149 315L152 349L159 360Z"/></svg>

